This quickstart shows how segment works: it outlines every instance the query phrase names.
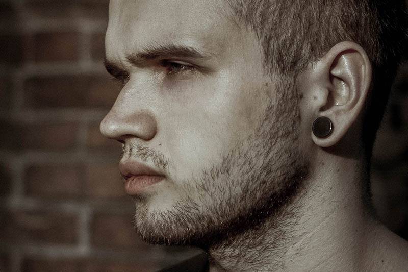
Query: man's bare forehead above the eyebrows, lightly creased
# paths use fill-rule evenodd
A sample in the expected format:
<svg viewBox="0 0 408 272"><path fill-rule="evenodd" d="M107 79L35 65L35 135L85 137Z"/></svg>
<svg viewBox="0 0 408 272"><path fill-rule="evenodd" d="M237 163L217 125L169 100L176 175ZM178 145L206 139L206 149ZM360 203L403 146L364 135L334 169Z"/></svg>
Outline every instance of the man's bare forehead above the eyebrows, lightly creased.
<svg viewBox="0 0 408 272"><path fill-rule="evenodd" d="M222 15L220 3L222 1L113 0L109 5L107 56L120 61L125 54L170 43L216 54L225 47L234 27Z"/></svg>

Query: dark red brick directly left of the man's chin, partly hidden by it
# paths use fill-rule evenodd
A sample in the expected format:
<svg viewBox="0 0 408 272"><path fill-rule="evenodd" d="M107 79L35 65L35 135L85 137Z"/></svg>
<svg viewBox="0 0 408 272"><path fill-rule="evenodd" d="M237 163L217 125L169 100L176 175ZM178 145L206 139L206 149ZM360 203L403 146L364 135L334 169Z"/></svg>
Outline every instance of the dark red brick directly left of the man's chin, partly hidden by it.
<svg viewBox="0 0 408 272"><path fill-rule="evenodd" d="M132 220L130 214L95 214L91 221L91 244L98 248L147 250L150 245L133 229Z"/></svg>

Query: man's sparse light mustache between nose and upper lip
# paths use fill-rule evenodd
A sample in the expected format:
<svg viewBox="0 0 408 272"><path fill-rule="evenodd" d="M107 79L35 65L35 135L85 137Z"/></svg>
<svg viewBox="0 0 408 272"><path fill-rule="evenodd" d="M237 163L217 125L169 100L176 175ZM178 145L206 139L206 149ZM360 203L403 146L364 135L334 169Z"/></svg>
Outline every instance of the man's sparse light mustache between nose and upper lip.
<svg viewBox="0 0 408 272"><path fill-rule="evenodd" d="M140 143L130 143L122 144L122 154L120 159L123 157L137 158L146 162L151 160L152 163L159 169L166 171L169 166L169 160L163 155L163 153L151 149L148 146L144 146Z"/></svg>

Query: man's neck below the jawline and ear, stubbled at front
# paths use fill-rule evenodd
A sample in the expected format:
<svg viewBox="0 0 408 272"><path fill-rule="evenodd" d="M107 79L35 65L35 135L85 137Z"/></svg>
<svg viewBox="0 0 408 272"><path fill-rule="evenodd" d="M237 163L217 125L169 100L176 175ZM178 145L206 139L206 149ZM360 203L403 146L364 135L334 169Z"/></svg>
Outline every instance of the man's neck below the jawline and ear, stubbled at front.
<svg viewBox="0 0 408 272"><path fill-rule="evenodd" d="M212 246L210 271L361 270L373 226L363 196L365 163L325 157L281 213Z"/></svg>

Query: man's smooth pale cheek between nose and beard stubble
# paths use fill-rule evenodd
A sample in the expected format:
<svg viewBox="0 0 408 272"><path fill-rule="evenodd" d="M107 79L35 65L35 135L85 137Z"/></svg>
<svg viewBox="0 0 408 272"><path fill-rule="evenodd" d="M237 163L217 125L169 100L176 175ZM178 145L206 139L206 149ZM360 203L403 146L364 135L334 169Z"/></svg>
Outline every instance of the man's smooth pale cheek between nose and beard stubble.
<svg viewBox="0 0 408 272"><path fill-rule="evenodd" d="M230 112L234 102L222 93L225 90L211 82L199 86L186 83L171 97L166 142L180 178L190 178L193 172L197 175L199 169L219 161L234 133Z"/></svg>

